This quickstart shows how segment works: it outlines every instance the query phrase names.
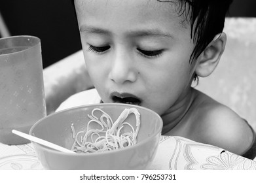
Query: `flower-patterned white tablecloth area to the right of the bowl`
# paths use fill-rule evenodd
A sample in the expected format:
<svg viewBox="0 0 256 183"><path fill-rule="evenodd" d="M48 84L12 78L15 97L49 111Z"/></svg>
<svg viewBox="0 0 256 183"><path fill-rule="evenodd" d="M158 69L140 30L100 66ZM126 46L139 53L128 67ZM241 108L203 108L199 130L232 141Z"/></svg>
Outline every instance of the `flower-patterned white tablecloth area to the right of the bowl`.
<svg viewBox="0 0 256 183"><path fill-rule="evenodd" d="M256 162L217 146L194 142L183 137L162 136L150 169L254 170Z"/></svg>

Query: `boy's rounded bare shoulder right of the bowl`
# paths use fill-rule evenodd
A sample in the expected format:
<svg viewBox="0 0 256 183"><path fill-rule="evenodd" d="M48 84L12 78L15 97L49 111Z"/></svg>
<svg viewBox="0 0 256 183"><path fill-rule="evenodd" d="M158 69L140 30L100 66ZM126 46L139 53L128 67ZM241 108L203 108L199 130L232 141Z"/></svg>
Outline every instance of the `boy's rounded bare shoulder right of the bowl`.
<svg viewBox="0 0 256 183"><path fill-rule="evenodd" d="M235 154L243 154L253 141L247 122L229 107L204 96L198 106L196 130L201 142L213 144Z"/></svg>

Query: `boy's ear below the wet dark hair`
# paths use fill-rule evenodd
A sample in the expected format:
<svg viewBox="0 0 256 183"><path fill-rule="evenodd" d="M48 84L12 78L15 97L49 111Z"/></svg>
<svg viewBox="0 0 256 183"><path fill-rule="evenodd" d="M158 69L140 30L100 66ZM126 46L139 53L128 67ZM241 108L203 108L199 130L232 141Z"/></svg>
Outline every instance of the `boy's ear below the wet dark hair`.
<svg viewBox="0 0 256 183"><path fill-rule="evenodd" d="M200 77L211 75L225 50L227 35L219 33L196 60L195 72Z"/></svg>

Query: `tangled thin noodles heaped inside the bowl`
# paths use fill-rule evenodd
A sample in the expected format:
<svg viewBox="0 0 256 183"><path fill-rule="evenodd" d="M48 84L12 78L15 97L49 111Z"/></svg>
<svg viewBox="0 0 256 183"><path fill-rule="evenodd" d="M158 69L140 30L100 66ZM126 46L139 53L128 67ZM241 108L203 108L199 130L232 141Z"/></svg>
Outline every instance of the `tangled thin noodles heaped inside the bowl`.
<svg viewBox="0 0 256 183"><path fill-rule="evenodd" d="M94 114L96 110L102 113L100 119ZM129 114L136 116L136 129L128 122L124 122ZM92 114L88 114L88 118L90 121L86 131L76 133L73 124L71 125L74 139L71 150L74 152L105 152L136 144L140 127L140 114L136 108L125 108L115 122L100 108L94 108ZM100 129L90 129L90 125L93 123L100 125ZM121 133L125 125L132 131ZM83 135L81 136L81 134ZM81 136L80 139L79 135Z"/></svg>

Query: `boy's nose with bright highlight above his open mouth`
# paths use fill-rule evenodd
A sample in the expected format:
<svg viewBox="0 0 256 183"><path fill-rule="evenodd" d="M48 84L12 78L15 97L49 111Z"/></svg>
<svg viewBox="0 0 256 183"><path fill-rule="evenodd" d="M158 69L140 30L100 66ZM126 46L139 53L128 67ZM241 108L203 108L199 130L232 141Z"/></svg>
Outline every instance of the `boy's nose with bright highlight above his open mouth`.
<svg viewBox="0 0 256 183"><path fill-rule="evenodd" d="M117 52L112 60L109 78L117 84L135 82L138 71L134 59L124 52Z"/></svg>

